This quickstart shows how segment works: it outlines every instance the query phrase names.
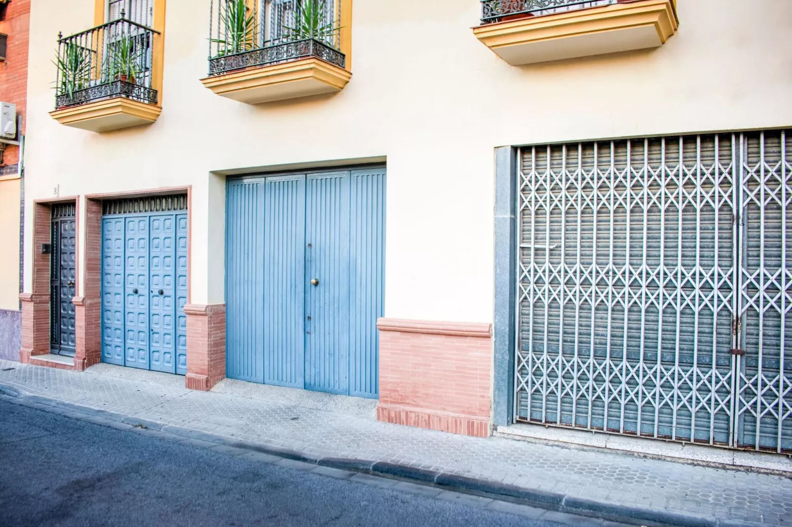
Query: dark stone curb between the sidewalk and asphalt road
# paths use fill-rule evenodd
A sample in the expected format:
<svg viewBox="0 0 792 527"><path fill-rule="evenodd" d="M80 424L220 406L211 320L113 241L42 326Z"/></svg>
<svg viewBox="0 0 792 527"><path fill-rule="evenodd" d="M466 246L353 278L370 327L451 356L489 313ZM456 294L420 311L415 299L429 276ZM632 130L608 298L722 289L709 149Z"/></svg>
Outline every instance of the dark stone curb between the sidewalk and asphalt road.
<svg viewBox="0 0 792 527"><path fill-rule="evenodd" d="M225 445L237 449L251 450L265 453L270 456L282 457L303 463L317 464L330 468L337 468L349 472L360 472L372 476L384 476L400 480L409 480L442 487L470 495L482 495L501 501L518 502L527 506L544 510L551 510L565 514L576 514L588 518L616 521L645 527L759 527L756 522L722 520L706 518L692 514L672 513L667 510L621 506L614 503L596 502L590 499L581 499L575 496L558 492L539 491L525 487L517 487L507 483L498 483L466 476L459 476L451 472L441 472L416 468L406 464L394 464L386 461L371 461L345 457L311 456L299 450L280 448L262 443L242 441L220 434L211 434L200 430L180 427L137 419L128 415L117 414L112 411L89 408L79 404L63 403L59 400L43 396L27 395L17 389L0 385L0 398L14 404L21 404L44 411L55 411L75 419L86 420L101 426L112 426L111 423L122 423L129 430L147 429L162 432L188 439L211 442L216 445ZM59 409L61 411L56 411Z"/></svg>

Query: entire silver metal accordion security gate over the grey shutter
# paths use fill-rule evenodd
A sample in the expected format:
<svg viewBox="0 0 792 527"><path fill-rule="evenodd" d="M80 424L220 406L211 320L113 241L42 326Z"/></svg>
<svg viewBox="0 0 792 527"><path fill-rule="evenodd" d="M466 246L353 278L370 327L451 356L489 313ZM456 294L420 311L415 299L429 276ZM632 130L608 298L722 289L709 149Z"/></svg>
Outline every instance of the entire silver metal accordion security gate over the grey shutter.
<svg viewBox="0 0 792 527"><path fill-rule="evenodd" d="M531 146L516 421L792 451L792 133Z"/></svg>

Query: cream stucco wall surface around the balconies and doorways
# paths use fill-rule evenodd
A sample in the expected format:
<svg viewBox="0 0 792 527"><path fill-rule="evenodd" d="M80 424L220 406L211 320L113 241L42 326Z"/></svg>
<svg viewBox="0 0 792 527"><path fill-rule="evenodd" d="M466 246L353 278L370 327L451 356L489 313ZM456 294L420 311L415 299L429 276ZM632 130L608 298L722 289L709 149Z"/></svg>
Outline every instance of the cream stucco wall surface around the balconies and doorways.
<svg viewBox="0 0 792 527"><path fill-rule="evenodd" d="M93 0L33 3L28 93L28 214L57 185L191 184L196 303L224 300L223 171L386 158L386 316L486 322L494 147L792 125L789 0L682 0L661 48L521 67L473 36L477 0L354 0L349 85L258 106L199 81L207 3L168 0L153 125L97 135L48 116L55 36L89 28ZM29 242L30 223L25 232Z"/></svg>

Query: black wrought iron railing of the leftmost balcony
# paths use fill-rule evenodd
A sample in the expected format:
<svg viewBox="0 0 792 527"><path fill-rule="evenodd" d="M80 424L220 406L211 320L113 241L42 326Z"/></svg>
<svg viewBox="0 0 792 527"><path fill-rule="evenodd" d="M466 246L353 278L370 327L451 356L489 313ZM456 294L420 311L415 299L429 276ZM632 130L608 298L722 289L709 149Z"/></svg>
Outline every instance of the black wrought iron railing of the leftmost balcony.
<svg viewBox="0 0 792 527"><path fill-rule="evenodd" d="M76 35L58 36L55 107L125 97L157 104L151 88L154 29L121 18Z"/></svg>

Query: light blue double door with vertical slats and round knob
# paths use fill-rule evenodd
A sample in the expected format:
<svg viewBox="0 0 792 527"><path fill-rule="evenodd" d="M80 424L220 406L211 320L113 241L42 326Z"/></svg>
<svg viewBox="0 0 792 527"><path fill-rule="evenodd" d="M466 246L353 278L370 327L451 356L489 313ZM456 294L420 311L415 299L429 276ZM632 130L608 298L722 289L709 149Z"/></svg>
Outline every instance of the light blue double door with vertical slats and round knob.
<svg viewBox="0 0 792 527"><path fill-rule="evenodd" d="M227 188L227 376L376 398L385 169Z"/></svg>

